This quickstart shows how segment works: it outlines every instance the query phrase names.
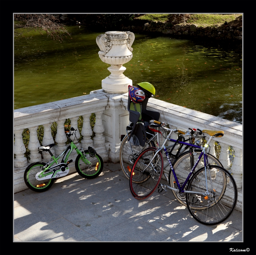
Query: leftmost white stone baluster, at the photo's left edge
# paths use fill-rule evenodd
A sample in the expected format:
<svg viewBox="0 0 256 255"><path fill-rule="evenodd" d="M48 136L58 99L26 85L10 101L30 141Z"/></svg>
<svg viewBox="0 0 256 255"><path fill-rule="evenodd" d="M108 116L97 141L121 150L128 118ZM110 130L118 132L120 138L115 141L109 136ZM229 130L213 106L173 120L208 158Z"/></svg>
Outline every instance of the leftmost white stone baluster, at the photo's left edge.
<svg viewBox="0 0 256 255"><path fill-rule="evenodd" d="M14 167L25 167L28 165L28 160L24 156L24 153L26 152L26 147L23 143L22 132L23 132L23 129L14 131L14 135L15 135L14 154L16 157L14 159Z"/></svg>

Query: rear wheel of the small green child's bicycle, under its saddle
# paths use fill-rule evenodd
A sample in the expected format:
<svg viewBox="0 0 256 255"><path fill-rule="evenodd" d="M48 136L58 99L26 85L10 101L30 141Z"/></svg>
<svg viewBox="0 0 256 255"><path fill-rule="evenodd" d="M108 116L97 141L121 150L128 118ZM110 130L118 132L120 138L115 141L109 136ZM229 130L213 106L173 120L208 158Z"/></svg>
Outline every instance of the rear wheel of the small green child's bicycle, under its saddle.
<svg viewBox="0 0 256 255"><path fill-rule="evenodd" d="M30 190L43 192L52 187L54 179L46 179L42 181L36 180L36 174L42 172L45 165L44 162L34 162L26 168L24 172L24 181Z"/></svg>

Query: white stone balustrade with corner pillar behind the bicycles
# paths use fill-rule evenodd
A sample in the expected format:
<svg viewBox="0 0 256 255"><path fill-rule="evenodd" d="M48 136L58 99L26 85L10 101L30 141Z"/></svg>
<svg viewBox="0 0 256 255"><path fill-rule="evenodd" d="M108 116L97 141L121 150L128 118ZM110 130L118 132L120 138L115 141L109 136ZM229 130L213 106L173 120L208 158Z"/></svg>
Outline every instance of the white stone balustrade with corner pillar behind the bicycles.
<svg viewBox="0 0 256 255"><path fill-rule="evenodd" d="M128 94L108 94L103 92L103 89L92 91L91 94L55 101L52 103L36 105L14 110L14 192L18 192L27 188L24 183L23 175L28 165L24 157L25 146L22 141L22 132L25 128L30 130L30 142L28 148L32 151L32 160L35 160L38 151L36 148L38 139L36 130L39 125L44 126L43 144L52 143L50 126L53 122L57 122L56 142L58 146L65 144L67 139L64 139L64 122L66 119L71 120L71 126L74 128L77 125L79 116L83 116L84 122L81 131L82 147L87 149L92 146L102 156L103 160L112 160L117 163L119 159L120 138L125 134L125 127L129 124L129 112L127 111ZM238 187L238 203L237 209L242 208L242 125L211 116L202 112L194 111L180 107L171 103L151 98L148 101L148 110L160 112L160 121L169 124L171 128L199 128L201 130L222 130L224 136L214 138L211 146L211 154L214 155L214 141L218 141L221 145L220 161L224 162L223 166L228 168L229 157L228 147L233 146L235 150L235 158L231 167ZM92 129L90 126L90 116L92 113L96 115L94 125L95 137L91 139ZM59 130L60 129L60 130ZM58 131L59 130L59 131ZM32 139L31 139L32 135ZM60 138L62 137L62 138ZM65 141L64 141L65 140ZM59 144L60 143L60 144ZM36 147L37 146L37 147ZM58 146L53 147L57 155ZM40 157L40 154L38 154ZM76 155L75 155L76 156ZM41 159L40 159L41 161ZM43 161L48 161L44 158ZM75 161L75 158L73 159ZM73 164L73 165L72 165ZM70 163L74 166L74 162ZM71 168L70 168L71 169ZM75 171L75 170L74 170ZM74 172L73 171L73 172ZM72 172L72 171L70 171Z"/></svg>

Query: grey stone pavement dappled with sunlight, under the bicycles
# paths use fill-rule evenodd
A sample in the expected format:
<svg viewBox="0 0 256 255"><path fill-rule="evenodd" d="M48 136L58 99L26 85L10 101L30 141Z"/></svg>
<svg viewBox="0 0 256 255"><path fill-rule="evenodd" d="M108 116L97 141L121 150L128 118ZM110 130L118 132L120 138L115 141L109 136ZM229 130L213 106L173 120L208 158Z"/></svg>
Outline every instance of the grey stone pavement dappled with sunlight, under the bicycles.
<svg viewBox="0 0 256 255"><path fill-rule="evenodd" d="M242 236L238 211L219 225L206 226L171 190L135 199L119 163L105 162L95 179L73 173L48 191L14 194L14 242L242 242Z"/></svg>

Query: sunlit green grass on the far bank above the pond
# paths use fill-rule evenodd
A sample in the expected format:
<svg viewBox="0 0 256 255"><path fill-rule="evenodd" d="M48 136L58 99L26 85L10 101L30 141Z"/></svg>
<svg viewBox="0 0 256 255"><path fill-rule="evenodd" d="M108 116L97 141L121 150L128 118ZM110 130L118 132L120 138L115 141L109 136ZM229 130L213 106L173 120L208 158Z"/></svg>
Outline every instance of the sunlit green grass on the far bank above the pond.
<svg viewBox="0 0 256 255"><path fill-rule="evenodd" d="M176 14L141 14L141 16L135 19L141 19L148 22L151 21L172 21L173 18L177 18ZM182 16L182 15L181 15ZM184 17L177 19L176 24L196 24L197 26L211 26L211 25L222 25L225 21L231 22L238 17L242 17L242 14L184 14Z"/></svg>

